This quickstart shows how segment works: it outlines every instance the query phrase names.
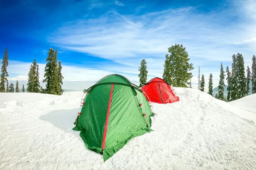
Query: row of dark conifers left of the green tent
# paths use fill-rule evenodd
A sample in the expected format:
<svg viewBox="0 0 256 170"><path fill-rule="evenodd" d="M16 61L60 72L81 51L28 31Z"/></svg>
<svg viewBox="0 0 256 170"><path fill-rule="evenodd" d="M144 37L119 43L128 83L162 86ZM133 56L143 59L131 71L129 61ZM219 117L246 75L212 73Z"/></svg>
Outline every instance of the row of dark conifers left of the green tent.
<svg viewBox="0 0 256 170"><path fill-rule="evenodd" d="M9 56L8 56L8 48L5 49L2 67L1 67L1 76L0 76L0 92L14 92L14 84L11 83L9 86L9 82L7 77L9 74L7 72L7 68L9 65ZM63 85L63 76L61 73L62 66L61 61L57 60L58 51L55 51L50 48L48 52L48 57L46 58L46 66L44 69L44 79L43 83L46 83L46 88L43 89L40 86L39 82L39 65L36 63L36 59L30 65L30 70L28 72L28 83L27 83L27 92L30 93L45 93L52 95L62 95L63 90L61 85ZM5 83L7 87L5 88ZM16 81L16 93L19 91L18 80ZM22 92L25 92L24 84L22 86Z"/></svg>

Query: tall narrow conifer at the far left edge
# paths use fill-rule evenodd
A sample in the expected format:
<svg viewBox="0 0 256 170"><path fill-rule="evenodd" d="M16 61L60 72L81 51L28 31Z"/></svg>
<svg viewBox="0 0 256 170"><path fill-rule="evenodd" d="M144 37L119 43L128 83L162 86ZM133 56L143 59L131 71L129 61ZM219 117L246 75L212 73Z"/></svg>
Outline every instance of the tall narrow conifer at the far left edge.
<svg viewBox="0 0 256 170"><path fill-rule="evenodd" d="M1 67L1 76L0 76L0 92L5 92L5 82L7 81L7 77L9 76L7 72L7 67L9 65L9 56L7 52L8 48L5 49L5 54L2 61Z"/></svg>

